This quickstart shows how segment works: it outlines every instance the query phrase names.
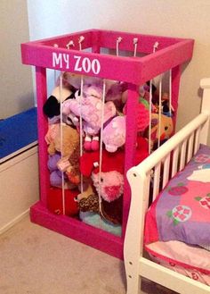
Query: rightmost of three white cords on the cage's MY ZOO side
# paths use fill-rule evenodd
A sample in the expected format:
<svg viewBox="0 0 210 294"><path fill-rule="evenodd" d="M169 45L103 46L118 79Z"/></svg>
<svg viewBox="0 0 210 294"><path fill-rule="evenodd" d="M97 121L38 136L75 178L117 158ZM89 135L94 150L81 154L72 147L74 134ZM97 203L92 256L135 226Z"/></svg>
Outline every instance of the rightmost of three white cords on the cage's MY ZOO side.
<svg viewBox="0 0 210 294"><path fill-rule="evenodd" d="M104 104L105 104L105 93L106 93L106 81L103 80L103 92L102 92L102 107L101 107L101 134L100 134L100 156L99 156L99 210L102 214L101 209L101 166L102 166L102 142L103 142L103 120L104 120Z"/></svg>

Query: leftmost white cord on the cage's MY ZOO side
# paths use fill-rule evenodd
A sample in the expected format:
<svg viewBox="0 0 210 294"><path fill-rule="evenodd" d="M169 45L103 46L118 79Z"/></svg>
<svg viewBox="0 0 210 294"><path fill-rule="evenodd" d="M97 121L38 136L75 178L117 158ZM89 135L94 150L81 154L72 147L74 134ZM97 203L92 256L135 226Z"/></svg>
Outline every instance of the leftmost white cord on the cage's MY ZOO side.
<svg viewBox="0 0 210 294"><path fill-rule="evenodd" d="M63 132L62 132L62 72L60 72L60 141L61 141L61 159L63 158ZM61 184L62 184L62 214L66 212L65 206L65 189L64 189L64 173L61 171Z"/></svg>

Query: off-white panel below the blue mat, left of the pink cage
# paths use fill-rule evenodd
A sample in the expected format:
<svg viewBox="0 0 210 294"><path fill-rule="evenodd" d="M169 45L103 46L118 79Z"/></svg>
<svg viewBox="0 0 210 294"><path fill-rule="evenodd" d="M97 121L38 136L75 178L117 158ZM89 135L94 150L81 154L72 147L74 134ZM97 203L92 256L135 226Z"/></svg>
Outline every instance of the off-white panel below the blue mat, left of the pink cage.
<svg viewBox="0 0 210 294"><path fill-rule="evenodd" d="M28 214L39 198L37 146L0 164L0 234Z"/></svg>

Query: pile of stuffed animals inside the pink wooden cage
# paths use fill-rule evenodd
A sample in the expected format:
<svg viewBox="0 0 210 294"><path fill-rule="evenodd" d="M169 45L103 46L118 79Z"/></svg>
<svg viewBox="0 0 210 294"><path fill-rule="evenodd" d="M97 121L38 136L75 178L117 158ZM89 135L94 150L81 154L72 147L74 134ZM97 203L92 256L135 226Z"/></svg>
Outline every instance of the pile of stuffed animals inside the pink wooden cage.
<svg viewBox="0 0 210 294"><path fill-rule="evenodd" d="M77 74L64 72L59 80L62 80L62 87L58 82L43 108L49 122L45 135L51 184L47 196L48 209L55 214L63 213L61 187L64 186L68 195L65 214L77 215L85 223L96 227L101 223L104 230L120 234L124 193L126 84L106 80L103 93L103 81L98 78L85 77L82 88L81 77ZM147 85L141 87L139 92L135 164L149 155L146 138L149 128ZM151 131L154 145L159 133L155 104L152 109L152 119L156 120ZM167 139L173 131L172 118L167 116L167 119L161 121L166 123L165 126L161 125L161 138Z"/></svg>

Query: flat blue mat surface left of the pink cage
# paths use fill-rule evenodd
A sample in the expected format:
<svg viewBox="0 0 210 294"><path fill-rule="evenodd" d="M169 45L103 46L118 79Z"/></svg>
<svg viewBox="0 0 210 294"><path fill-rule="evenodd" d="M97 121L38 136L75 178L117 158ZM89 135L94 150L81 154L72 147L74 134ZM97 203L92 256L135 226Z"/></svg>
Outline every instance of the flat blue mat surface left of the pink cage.
<svg viewBox="0 0 210 294"><path fill-rule="evenodd" d="M0 159L37 140L37 109L28 109L0 121Z"/></svg>

